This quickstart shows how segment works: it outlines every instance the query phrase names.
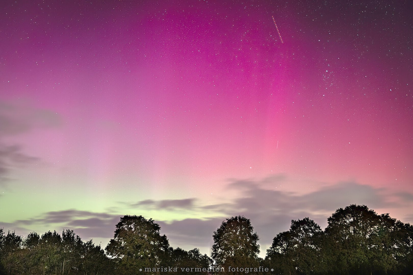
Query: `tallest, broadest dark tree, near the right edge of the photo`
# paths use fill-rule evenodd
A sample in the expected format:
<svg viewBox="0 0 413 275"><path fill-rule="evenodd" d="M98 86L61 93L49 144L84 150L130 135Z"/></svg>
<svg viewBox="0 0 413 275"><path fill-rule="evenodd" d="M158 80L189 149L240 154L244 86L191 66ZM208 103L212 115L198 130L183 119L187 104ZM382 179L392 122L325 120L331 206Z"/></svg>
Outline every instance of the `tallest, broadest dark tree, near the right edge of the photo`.
<svg viewBox="0 0 413 275"><path fill-rule="evenodd" d="M406 243L408 230L401 233L403 223L388 214L378 215L365 205L340 208L328 218L323 242L335 274L387 274L398 272L404 253L411 249ZM407 249L407 250L406 250ZM399 259L398 259L399 258Z"/></svg>

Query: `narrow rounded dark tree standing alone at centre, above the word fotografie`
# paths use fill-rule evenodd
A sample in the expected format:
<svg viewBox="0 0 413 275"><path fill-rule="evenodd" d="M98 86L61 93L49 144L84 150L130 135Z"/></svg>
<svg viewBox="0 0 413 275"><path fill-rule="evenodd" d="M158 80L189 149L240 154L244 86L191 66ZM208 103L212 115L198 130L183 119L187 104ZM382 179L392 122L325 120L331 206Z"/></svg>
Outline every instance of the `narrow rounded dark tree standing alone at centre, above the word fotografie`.
<svg viewBox="0 0 413 275"><path fill-rule="evenodd" d="M211 256L216 267L228 271L230 266L235 268L259 266L259 237L257 233L254 233L249 219L244 216L231 217L222 222L213 237L214 245Z"/></svg>

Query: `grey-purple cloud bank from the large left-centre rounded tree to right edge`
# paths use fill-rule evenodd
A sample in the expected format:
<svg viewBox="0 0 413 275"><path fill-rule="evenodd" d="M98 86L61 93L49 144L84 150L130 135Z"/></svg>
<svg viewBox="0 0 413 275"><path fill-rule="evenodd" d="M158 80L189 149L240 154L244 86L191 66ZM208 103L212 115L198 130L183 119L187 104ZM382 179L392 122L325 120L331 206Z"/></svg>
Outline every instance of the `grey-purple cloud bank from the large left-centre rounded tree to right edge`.
<svg viewBox="0 0 413 275"><path fill-rule="evenodd" d="M375 188L356 182L340 182L307 194L266 187L285 180L285 175L272 176L260 181L232 179L228 183L228 188L241 191L240 197L221 204L198 206L199 211L214 211L221 213L220 216L213 219L185 219L159 224L172 244L186 243L196 246L211 242L211 236L225 218L244 215L251 219L260 236L261 249L265 250L278 233L290 228L292 219L309 217L324 228L327 226L327 218L335 210L350 204L365 204L370 209L382 209L399 207L402 200L412 202L409 200L411 194L396 193L396 199L389 200L389 192L385 188Z"/></svg>

